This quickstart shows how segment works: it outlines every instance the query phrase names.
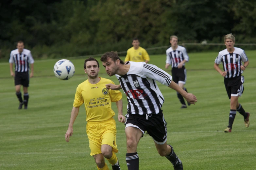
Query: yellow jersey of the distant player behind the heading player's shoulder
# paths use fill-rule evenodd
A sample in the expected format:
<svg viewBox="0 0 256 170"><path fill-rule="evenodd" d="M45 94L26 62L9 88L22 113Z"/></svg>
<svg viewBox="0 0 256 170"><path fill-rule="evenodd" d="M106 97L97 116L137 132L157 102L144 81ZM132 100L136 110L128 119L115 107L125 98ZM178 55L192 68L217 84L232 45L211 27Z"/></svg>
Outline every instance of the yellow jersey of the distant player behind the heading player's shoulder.
<svg viewBox="0 0 256 170"><path fill-rule="evenodd" d="M132 47L127 50L125 62L144 62L145 60L149 61L150 59L147 51L144 48L139 47L137 50L135 50L134 47Z"/></svg>

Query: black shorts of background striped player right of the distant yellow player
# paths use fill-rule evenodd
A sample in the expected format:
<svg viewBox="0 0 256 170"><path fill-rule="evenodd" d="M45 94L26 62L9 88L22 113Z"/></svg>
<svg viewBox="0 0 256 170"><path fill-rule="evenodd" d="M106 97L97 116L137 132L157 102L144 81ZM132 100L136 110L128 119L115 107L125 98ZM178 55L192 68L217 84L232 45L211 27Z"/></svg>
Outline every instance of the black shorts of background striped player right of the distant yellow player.
<svg viewBox="0 0 256 170"><path fill-rule="evenodd" d="M182 68L173 67L172 80L177 84L178 83L186 84L186 80L187 80L186 68L184 66Z"/></svg>

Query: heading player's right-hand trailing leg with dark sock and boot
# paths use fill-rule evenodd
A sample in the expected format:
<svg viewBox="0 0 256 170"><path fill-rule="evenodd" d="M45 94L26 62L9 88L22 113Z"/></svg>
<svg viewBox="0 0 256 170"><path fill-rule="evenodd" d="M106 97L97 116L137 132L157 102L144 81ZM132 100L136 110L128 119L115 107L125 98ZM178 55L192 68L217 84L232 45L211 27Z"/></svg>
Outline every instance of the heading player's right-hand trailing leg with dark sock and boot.
<svg viewBox="0 0 256 170"><path fill-rule="evenodd" d="M167 142L160 145L155 142L156 149L160 156L165 156L172 164L175 170L183 170L183 165L178 156L173 151L171 145L167 145Z"/></svg>

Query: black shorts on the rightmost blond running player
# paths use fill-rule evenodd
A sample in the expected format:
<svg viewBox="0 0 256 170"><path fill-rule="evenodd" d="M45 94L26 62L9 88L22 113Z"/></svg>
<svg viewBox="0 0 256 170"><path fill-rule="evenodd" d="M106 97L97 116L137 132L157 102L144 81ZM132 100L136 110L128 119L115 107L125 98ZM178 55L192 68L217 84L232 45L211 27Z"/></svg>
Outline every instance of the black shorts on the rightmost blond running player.
<svg viewBox="0 0 256 170"><path fill-rule="evenodd" d="M224 78L224 84L228 93L229 99L231 96L241 96L244 92L244 76L235 78Z"/></svg>

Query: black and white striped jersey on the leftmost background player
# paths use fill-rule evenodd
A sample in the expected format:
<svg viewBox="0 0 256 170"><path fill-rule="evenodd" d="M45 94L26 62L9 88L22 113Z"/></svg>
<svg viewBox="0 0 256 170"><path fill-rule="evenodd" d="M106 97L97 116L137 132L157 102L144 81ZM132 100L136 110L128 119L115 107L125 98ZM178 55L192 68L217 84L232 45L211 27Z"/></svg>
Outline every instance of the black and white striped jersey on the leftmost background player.
<svg viewBox="0 0 256 170"><path fill-rule="evenodd" d="M22 53L19 50L12 50L10 54L9 63L15 64L15 71L17 72L27 72L29 71L29 64L34 63L31 51L23 49Z"/></svg>

